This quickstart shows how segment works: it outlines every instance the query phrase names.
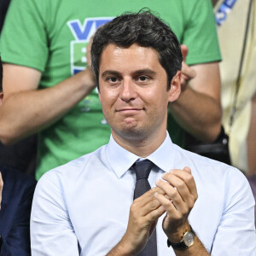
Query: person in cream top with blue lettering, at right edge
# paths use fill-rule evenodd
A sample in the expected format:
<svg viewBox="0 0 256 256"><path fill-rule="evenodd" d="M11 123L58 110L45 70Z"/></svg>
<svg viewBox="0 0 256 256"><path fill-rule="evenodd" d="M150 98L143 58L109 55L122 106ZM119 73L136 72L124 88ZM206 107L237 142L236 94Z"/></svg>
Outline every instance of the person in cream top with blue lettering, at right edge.
<svg viewBox="0 0 256 256"><path fill-rule="evenodd" d="M256 174L255 1L212 0L212 4L223 56L220 63L222 121L230 134L231 164L251 176Z"/></svg>

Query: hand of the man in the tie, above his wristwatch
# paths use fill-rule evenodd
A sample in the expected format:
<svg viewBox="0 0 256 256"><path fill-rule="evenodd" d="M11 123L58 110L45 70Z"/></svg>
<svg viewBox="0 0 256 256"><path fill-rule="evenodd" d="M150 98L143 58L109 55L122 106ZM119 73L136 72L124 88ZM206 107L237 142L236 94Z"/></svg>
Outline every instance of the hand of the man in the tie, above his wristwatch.
<svg viewBox="0 0 256 256"><path fill-rule="evenodd" d="M165 191L166 196L156 193L155 198L166 210L163 230L170 241L177 242L180 241L183 232L189 229L189 212L198 197L195 180L189 167L166 172L162 178L163 180L158 180L156 185Z"/></svg>

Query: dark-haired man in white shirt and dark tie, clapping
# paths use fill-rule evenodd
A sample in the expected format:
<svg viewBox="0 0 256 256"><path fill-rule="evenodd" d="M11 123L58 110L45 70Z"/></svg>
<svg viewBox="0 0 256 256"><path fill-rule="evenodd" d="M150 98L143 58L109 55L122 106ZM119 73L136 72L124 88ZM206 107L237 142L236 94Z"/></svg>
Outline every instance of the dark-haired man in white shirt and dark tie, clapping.
<svg viewBox="0 0 256 256"><path fill-rule="evenodd" d="M112 136L39 180L32 253L254 255L246 178L179 148L166 133L167 106L181 90L171 29L148 11L121 15L97 30L91 63Z"/></svg>

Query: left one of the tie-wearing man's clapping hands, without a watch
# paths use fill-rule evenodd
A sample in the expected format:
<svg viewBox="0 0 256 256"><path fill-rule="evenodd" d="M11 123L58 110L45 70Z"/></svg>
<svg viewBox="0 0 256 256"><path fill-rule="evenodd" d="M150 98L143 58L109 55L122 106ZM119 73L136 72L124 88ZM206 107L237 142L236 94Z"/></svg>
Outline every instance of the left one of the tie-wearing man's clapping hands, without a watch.
<svg viewBox="0 0 256 256"><path fill-rule="evenodd" d="M163 196L165 194L162 189L153 188L138 197L131 205L127 230L120 241L123 247L127 248L129 255L136 255L145 247L158 218L166 212L160 201L154 198L155 193Z"/></svg>

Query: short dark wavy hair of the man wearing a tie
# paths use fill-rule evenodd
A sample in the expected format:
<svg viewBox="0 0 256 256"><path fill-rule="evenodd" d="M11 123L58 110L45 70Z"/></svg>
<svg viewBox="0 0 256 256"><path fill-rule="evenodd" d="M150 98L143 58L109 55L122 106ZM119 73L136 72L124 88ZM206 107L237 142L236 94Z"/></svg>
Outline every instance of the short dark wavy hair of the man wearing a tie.
<svg viewBox="0 0 256 256"><path fill-rule="evenodd" d="M126 13L98 28L91 45L91 67L99 84L99 66L103 49L108 44L128 48L131 44L155 49L160 65L167 74L167 89L177 70L181 70L183 56L172 29L149 9Z"/></svg>

